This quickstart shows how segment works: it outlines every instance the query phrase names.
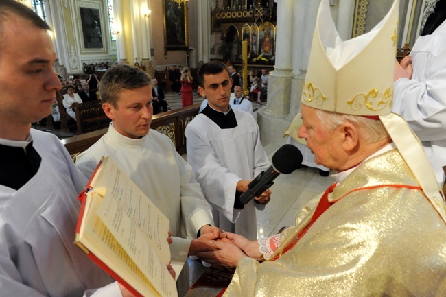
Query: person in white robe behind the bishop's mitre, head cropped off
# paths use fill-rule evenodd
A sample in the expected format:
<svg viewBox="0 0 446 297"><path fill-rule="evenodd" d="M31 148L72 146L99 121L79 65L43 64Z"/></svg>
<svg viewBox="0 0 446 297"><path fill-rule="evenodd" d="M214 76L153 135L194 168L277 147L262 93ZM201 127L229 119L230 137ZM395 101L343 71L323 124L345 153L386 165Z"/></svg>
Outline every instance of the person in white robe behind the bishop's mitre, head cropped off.
<svg viewBox="0 0 446 297"><path fill-rule="evenodd" d="M445 181L446 166L446 1L436 3L425 27L433 32L419 36L410 56L395 63L395 95L392 111L408 121L423 143L435 175ZM430 22L432 19L434 22ZM439 24L439 25L438 25Z"/></svg>

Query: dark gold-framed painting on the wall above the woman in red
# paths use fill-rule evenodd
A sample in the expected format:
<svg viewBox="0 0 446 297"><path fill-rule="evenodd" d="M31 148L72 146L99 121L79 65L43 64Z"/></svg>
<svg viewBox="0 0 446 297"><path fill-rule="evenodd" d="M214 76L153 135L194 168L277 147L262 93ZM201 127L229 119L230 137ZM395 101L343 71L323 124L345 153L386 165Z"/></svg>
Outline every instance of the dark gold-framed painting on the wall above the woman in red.
<svg viewBox="0 0 446 297"><path fill-rule="evenodd" d="M187 2L163 0L163 14L165 51L187 49Z"/></svg>

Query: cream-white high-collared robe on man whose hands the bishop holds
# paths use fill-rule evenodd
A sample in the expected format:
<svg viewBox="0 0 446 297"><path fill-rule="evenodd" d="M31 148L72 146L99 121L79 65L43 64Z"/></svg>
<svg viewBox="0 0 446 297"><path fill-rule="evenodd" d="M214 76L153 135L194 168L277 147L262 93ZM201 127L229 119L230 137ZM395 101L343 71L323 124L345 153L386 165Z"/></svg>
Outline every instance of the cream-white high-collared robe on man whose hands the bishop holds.
<svg viewBox="0 0 446 297"><path fill-rule="evenodd" d="M213 225L213 219L191 166L176 152L172 141L156 130L141 139L130 139L110 123L108 132L77 156L76 166L90 177L102 156L115 159L169 219L172 258L184 263L191 239L202 226Z"/></svg>

